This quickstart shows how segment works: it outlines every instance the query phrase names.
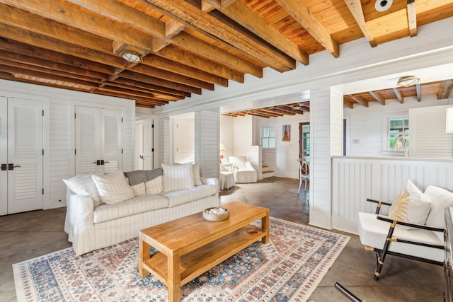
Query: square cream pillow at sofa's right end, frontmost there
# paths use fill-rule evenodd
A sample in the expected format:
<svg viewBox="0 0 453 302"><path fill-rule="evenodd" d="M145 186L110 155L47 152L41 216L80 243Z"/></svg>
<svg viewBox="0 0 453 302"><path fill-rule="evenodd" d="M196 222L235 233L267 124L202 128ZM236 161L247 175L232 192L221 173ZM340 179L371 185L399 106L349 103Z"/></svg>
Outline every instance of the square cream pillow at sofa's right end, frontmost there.
<svg viewBox="0 0 453 302"><path fill-rule="evenodd" d="M164 170L164 192L193 187L192 163L180 165L162 163L162 169Z"/></svg>

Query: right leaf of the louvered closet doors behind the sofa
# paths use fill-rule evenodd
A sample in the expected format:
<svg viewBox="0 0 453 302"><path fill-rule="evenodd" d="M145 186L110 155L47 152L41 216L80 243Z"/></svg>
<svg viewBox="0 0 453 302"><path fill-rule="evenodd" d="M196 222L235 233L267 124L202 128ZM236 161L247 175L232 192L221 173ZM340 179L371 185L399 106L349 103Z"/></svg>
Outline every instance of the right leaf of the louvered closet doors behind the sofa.
<svg viewBox="0 0 453 302"><path fill-rule="evenodd" d="M122 112L101 109L101 163L105 173L122 170Z"/></svg>

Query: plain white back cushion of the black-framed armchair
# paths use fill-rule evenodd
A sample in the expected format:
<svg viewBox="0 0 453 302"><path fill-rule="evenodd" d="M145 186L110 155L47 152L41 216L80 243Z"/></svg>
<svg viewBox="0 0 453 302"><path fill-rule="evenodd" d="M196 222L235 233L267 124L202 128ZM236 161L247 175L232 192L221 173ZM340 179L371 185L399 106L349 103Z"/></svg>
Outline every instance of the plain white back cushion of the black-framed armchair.
<svg viewBox="0 0 453 302"><path fill-rule="evenodd" d="M428 226L445 228L445 209L453 207L453 192L449 192L442 187L430 185L426 188L425 194L431 199L431 209L426 219Z"/></svg>

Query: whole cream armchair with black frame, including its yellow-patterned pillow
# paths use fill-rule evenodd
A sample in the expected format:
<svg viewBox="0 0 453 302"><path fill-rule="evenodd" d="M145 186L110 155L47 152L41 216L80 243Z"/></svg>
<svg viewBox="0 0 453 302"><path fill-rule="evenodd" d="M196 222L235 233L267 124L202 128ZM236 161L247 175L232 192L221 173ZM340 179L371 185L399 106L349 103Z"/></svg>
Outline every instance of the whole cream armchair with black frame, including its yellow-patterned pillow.
<svg viewBox="0 0 453 302"><path fill-rule="evenodd" d="M386 255L443 265L445 208L453 207L453 193L429 186L424 193L408 180L393 204L377 204L374 214L359 212L358 232L365 250L376 252L374 279L379 280ZM380 214L390 207L389 215Z"/></svg>

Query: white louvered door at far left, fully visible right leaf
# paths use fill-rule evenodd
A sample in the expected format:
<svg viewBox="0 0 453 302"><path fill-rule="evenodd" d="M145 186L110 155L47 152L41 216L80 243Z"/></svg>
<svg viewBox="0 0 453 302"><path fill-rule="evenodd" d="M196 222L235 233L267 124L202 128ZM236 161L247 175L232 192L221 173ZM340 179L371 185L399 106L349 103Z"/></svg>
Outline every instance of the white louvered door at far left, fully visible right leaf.
<svg viewBox="0 0 453 302"><path fill-rule="evenodd" d="M42 209L42 102L8 98L8 214Z"/></svg>

